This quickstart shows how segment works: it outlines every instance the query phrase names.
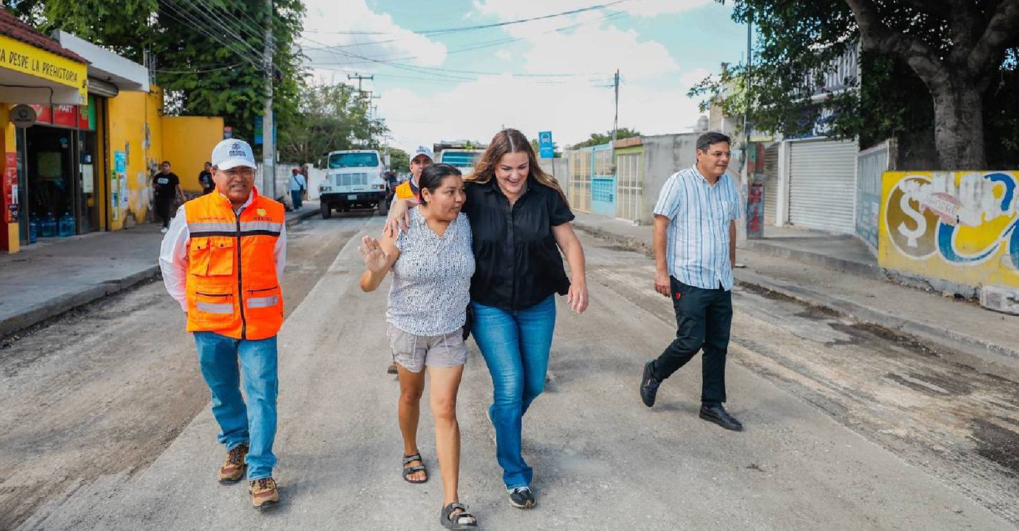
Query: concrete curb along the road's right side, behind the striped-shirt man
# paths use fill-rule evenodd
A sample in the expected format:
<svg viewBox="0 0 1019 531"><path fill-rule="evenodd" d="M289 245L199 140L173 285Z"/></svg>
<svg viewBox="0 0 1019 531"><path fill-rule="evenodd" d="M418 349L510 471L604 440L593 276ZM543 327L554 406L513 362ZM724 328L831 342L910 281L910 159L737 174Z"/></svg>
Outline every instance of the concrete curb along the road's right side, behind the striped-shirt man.
<svg viewBox="0 0 1019 531"><path fill-rule="evenodd" d="M628 236L620 236L618 234L612 234L605 230L590 227L581 223L574 223L574 227L584 231L592 236L603 238L620 245L629 248L635 252L641 252L646 255L653 255L653 249L647 242L639 240L637 238L632 238ZM761 245L762 247L771 247L768 245ZM773 247L772 247L773 248ZM757 249L751 249L757 250ZM757 252L765 252L763 250L757 250ZM810 254L810 253L805 253ZM816 256L816 255L815 255ZM799 259L799 255L795 256L785 256ZM832 258L834 261L847 262L855 264L860 271L864 271L864 276L878 275L878 270L873 268L865 267L864 264L851 262L849 260L842 260L839 258ZM808 261L808 260L802 260ZM811 262L816 266L825 266L824 260L818 260ZM830 266L827 266L830 268ZM842 270L847 273L853 270ZM772 279L758 275L756 273L747 270L734 270L734 276L736 277L737 284L754 286L759 289L766 291L771 291L780 295L792 298L801 303L810 306L819 306L826 308L840 316L848 317L858 322L871 324L874 327L879 327L881 329L890 330L893 332L900 332L903 334L908 334L917 338L921 338L940 345L944 345L950 348L958 348L960 346L966 347L968 349L976 349L982 352L988 352L993 354L998 354L1002 356L1007 356L1013 360L1019 359L1019 350L1005 347L1003 345L998 345L994 343L987 343L980 340L979 338L973 338L971 336L966 336L964 334L958 334L951 330L945 328L935 328L929 324L924 324L922 322L912 321L904 319L897 315L876 310L874 308L868 308L866 306L851 302L848 300L838 299L835 297L827 296L823 293L818 293L813 290L797 287L797 286L787 286L779 283ZM882 275L881 275L882 276Z"/></svg>

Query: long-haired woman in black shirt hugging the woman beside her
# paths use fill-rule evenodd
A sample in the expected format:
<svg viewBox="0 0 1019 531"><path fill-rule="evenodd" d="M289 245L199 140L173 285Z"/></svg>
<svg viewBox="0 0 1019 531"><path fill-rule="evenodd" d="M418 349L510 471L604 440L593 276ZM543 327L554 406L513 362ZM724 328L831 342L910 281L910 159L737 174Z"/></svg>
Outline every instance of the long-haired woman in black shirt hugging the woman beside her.
<svg viewBox="0 0 1019 531"><path fill-rule="evenodd" d="M471 333L492 376L488 418L496 459L509 504L530 509L533 470L521 454L522 419L544 391L554 295L566 295L578 313L587 309L584 249L570 225L574 215L562 189L541 171L527 137L516 129L495 134L465 191L476 262ZM406 230L411 206L409 199L395 201L386 230Z"/></svg>

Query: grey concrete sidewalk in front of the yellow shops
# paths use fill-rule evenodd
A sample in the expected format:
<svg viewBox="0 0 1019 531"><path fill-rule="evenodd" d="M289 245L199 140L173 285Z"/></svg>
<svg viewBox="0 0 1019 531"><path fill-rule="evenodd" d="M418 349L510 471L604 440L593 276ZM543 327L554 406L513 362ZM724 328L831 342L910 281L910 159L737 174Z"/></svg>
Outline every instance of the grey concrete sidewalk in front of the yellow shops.
<svg viewBox="0 0 1019 531"><path fill-rule="evenodd" d="M305 201L286 213L286 225L318 215L318 201ZM0 254L0 338L155 278L161 242L159 225L146 224Z"/></svg>

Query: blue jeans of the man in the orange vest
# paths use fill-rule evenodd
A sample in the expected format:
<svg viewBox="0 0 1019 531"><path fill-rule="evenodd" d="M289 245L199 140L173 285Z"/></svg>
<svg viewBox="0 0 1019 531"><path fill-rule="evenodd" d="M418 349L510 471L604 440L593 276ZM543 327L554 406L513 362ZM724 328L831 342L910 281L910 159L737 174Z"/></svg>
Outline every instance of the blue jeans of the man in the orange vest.
<svg viewBox="0 0 1019 531"><path fill-rule="evenodd" d="M214 332L196 332L198 361L212 391L212 415L219 423L218 440L226 450L248 444L248 479L272 475L276 456L276 338L235 340ZM237 359L240 359L239 370ZM245 394L240 396L240 372Z"/></svg>

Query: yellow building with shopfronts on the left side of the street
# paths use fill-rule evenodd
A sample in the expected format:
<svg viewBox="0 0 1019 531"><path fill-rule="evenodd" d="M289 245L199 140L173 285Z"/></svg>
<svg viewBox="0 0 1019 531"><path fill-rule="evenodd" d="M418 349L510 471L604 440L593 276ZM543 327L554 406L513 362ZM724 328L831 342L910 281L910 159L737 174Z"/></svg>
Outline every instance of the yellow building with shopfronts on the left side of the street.
<svg viewBox="0 0 1019 531"><path fill-rule="evenodd" d="M0 9L0 250L17 252L39 238L147 223L164 160L198 192L223 120L163 116L145 66L64 32L43 36Z"/></svg>

